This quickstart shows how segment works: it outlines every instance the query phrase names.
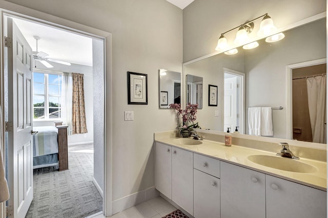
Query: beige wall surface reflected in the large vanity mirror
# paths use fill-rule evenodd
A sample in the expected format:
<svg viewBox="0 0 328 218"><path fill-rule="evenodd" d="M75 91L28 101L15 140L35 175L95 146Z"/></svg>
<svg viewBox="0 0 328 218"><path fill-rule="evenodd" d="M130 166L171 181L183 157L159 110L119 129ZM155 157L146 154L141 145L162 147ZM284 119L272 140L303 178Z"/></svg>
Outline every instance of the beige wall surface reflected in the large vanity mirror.
<svg viewBox="0 0 328 218"><path fill-rule="evenodd" d="M207 107L204 104L197 114L197 120L203 129L225 131L223 80L224 68L229 68L245 74L245 105L242 108L245 114L244 133L249 134L249 107L281 106L282 110L272 110L271 137L292 139L291 133L294 130L291 116L294 114L292 115L291 106L292 91L288 88L291 87L292 80L288 79L286 68L296 63L326 58L325 25L326 19L322 18L285 31L285 37L280 41L268 43L265 39L258 40L259 46L255 49L243 50L238 47L235 55L221 53L185 65L186 74L203 78L205 93L208 91L205 90L208 84L218 86L218 106ZM295 131L300 131L299 127Z"/></svg>

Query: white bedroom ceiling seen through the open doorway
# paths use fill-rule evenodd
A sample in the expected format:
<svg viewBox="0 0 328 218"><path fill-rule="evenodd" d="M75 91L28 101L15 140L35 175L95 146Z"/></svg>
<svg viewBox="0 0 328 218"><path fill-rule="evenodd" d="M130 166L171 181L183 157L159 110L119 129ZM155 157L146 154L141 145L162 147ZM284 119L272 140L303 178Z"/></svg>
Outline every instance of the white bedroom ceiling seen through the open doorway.
<svg viewBox="0 0 328 218"><path fill-rule="evenodd" d="M38 52L47 53L47 58L92 66L92 38L16 18L14 22L33 51L36 51L33 36L39 36Z"/></svg>

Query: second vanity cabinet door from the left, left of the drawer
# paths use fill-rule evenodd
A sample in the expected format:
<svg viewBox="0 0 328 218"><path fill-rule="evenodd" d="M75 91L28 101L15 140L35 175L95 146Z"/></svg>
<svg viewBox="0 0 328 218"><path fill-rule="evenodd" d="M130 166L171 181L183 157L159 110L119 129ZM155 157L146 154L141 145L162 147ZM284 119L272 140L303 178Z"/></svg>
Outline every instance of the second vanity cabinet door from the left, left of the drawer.
<svg viewBox="0 0 328 218"><path fill-rule="evenodd" d="M193 153L172 147L172 201L193 214Z"/></svg>

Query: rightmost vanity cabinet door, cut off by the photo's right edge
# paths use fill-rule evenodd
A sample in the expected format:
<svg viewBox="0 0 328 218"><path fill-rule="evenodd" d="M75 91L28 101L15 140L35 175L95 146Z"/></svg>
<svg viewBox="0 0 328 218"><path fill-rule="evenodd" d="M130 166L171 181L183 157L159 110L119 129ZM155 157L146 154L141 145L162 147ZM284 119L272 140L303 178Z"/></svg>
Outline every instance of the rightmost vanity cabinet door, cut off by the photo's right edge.
<svg viewBox="0 0 328 218"><path fill-rule="evenodd" d="M327 217L327 192L265 175L267 218Z"/></svg>

